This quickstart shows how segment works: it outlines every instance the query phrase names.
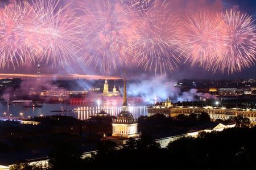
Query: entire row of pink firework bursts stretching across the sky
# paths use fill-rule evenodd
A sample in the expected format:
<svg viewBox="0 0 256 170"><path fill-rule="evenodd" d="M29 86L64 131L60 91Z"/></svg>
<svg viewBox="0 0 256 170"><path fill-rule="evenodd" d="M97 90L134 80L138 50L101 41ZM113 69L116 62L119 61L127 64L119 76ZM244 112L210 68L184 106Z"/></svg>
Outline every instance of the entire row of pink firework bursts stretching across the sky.
<svg viewBox="0 0 256 170"><path fill-rule="evenodd" d="M181 61L233 74L255 64L256 31L240 11L175 14L167 0L16 1L0 9L0 67L82 58L101 71L172 73ZM184 57L184 59L182 58Z"/></svg>

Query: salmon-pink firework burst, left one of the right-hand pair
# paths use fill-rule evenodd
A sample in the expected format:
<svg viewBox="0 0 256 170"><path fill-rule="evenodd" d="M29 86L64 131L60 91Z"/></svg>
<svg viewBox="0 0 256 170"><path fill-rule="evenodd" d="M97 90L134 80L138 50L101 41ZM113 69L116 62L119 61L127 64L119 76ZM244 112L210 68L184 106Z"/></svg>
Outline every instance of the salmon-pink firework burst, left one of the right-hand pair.
<svg viewBox="0 0 256 170"><path fill-rule="evenodd" d="M221 13L213 11L190 11L183 16L183 28L179 36L182 54L191 65L198 64L211 69L223 46L223 22Z"/></svg>

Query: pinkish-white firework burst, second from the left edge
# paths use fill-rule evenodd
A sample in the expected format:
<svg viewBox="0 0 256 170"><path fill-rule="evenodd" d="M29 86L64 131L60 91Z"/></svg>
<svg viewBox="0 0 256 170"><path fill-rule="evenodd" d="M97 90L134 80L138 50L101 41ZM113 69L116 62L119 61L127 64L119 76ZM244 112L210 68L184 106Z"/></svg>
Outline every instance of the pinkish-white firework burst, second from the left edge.
<svg viewBox="0 0 256 170"><path fill-rule="evenodd" d="M67 6L59 6L60 1L36 1L33 5L37 14L34 27L41 45L39 56L52 65L69 63L78 51L78 29L75 12ZM41 59L42 60L42 59Z"/></svg>

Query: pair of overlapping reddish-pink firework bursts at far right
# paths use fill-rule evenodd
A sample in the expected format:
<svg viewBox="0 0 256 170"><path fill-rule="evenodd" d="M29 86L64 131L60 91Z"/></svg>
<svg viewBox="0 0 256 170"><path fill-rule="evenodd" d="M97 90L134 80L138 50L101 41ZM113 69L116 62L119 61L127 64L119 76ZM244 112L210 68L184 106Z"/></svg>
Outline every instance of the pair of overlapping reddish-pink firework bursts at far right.
<svg viewBox="0 0 256 170"><path fill-rule="evenodd" d="M179 44L191 65L233 74L255 63L255 25L239 11L191 12Z"/></svg>

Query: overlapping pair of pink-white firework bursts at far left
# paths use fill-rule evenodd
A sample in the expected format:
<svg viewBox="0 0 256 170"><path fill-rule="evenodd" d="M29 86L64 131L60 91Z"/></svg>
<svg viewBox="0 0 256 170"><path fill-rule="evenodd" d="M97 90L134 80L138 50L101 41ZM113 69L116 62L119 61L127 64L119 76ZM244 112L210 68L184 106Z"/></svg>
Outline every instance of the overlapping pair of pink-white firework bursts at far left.
<svg viewBox="0 0 256 170"><path fill-rule="evenodd" d="M15 2L0 16L1 67L46 60L63 65L77 52L75 13L60 1Z"/></svg>

